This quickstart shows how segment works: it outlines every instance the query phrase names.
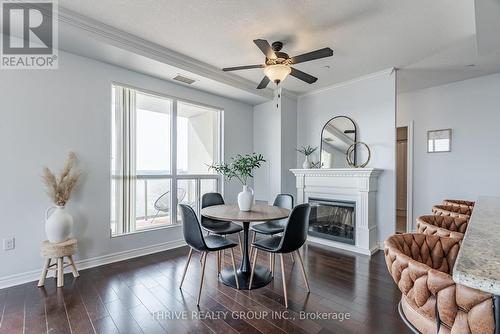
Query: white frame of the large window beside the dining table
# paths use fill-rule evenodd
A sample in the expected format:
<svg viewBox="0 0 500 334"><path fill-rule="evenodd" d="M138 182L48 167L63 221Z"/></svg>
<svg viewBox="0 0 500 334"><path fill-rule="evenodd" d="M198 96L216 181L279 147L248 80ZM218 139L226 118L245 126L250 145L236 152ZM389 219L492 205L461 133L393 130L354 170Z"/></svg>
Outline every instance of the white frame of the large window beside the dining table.
<svg viewBox="0 0 500 334"><path fill-rule="evenodd" d="M217 127L218 127L218 145L217 145L217 157L216 157L216 163L223 162L224 161L224 109L221 107L213 106L213 105L208 105L205 103L200 103L198 101L193 101L193 100L188 100L184 98L178 98L175 96L171 95L166 95L158 92L153 92L147 89L143 88L137 88L134 86L130 86L128 84L123 84L120 82L112 82L111 83L111 92L113 91L113 87L118 86L118 87L124 87L124 88L129 88L131 90L136 91L137 93L140 94L145 94L145 95L151 95L153 97L157 98L163 98L163 99L168 99L172 101L172 111L171 111L171 120L170 120L170 154L171 154L171 159L170 159L170 173L169 174L162 174L162 175L137 175L137 179L145 180L154 180L154 179L168 179L171 182L171 193L172 194L177 194L177 181L178 180L194 180L196 182L196 192L195 192L195 197L197 199L197 208L198 212L196 214L198 217L200 216L200 209L201 209L201 180L215 180L216 181L216 191L221 193L224 196L224 179L220 174L178 174L177 173L177 109L178 109L178 103L189 103L195 106L199 107L204 107L208 109L213 109L218 111L218 120L217 120ZM111 93L112 94L112 93ZM112 113L110 113L112 114ZM111 122L114 122L115 120L111 119ZM112 126L112 124L111 124ZM110 146L112 145L112 141L114 138L111 138ZM110 159L110 164L111 164L111 159ZM111 173L111 178L114 176L112 175L112 168L110 166L110 173ZM111 179L110 179L110 188L111 188ZM147 188L147 186L146 186ZM147 189L146 189L147 190ZM147 196L147 193L145 194ZM164 225L164 226L157 226L157 227L152 227L149 229L141 229L141 230L135 230L135 224L132 224L133 226L129 227L128 232L122 232L120 234L113 234L111 228L110 228L110 236L111 238L116 238L116 237L121 237L121 236L126 236L130 234L136 234L136 233L143 233L143 232L150 232L150 231L155 231L155 230L161 230L161 229L168 229L168 228L175 228L175 227L180 227L181 224L179 221L177 221L177 196L170 196L171 200L171 219L175 221L172 224L169 225ZM111 203L111 196L110 196L110 203ZM110 210L111 210L111 205L110 205ZM147 211L146 211L147 212ZM148 215L146 214L145 219L147 219ZM111 218L111 217L110 217ZM119 224L120 222L117 222ZM111 224L111 219L109 219L109 224ZM117 228L118 230L118 228Z"/></svg>

